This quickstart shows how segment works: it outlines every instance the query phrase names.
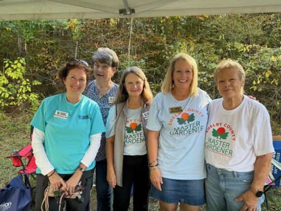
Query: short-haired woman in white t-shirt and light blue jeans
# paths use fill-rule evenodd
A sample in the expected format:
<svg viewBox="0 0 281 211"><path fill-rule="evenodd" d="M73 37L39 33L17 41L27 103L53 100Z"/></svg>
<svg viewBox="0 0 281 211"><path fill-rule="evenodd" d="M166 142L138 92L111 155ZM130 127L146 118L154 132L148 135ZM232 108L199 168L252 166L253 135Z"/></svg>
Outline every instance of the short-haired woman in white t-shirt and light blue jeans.
<svg viewBox="0 0 281 211"><path fill-rule="evenodd" d="M261 210L274 151L269 114L261 103L243 95L245 72L237 62L222 61L214 81L222 98L208 106L207 211Z"/></svg>

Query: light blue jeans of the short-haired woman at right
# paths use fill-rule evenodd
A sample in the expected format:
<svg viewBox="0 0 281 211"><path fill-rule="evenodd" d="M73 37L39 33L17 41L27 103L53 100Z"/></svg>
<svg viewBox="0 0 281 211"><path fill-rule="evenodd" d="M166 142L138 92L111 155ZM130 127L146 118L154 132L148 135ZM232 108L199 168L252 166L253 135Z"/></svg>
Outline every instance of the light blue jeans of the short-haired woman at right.
<svg viewBox="0 0 281 211"><path fill-rule="evenodd" d="M205 180L207 211L239 211L244 202L237 202L235 199L250 189L253 178L254 171L232 172L207 164ZM263 200L264 196L260 197L259 211Z"/></svg>

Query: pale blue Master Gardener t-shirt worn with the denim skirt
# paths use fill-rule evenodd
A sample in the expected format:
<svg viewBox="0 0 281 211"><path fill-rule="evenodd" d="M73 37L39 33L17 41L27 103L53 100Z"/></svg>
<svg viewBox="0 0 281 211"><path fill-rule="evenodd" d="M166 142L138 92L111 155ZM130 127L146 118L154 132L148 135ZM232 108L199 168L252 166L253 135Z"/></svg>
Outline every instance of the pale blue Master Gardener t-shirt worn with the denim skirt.
<svg viewBox="0 0 281 211"><path fill-rule="evenodd" d="M169 92L155 96L146 128L160 131L158 164L162 177L194 180L206 177L204 140L208 120L208 94L198 89L198 96L177 100ZM170 108L182 107L181 113L170 113Z"/></svg>

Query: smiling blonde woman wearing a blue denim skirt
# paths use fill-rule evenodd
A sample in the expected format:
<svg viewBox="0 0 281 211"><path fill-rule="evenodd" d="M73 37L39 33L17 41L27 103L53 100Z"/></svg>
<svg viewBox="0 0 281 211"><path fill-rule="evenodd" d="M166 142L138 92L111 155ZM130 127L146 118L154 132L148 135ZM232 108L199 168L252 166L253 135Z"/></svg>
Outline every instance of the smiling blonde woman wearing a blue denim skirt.
<svg viewBox="0 0 281 211"><path fill-rule="evenodd" d="M187 54L174 57L151 104L148 154L151 196L160 210L198 211L205 203L204 140L208 94L197 87L197 65Z"/></svg>

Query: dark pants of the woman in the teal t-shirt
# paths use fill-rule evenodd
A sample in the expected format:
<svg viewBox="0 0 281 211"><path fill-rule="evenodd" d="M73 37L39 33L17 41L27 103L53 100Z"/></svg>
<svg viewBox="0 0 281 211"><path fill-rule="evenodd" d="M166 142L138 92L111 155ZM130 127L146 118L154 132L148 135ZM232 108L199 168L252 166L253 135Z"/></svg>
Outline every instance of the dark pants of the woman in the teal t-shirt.
<svg viewBox="0 0 281 211"><path fill-rule="evenodd" d="M84 186L82 197L84 201L78 200L78 198L71 198L67 199L66 201L62 201L61 211L63 211L64 205L66 203L66 210L67 211L84 211L86 206L90 200L90 191L93 185L93 174L94 170L85 171L80 179L81 185ZM63 180L68 180L72 174L59 174ZM35 195L35 210L41 211L41 204L44 198L44 190L48 186L49 179L47 176L42 174L37 174L36 179L36 195ZM49 197L49 211L58 211L59 205L57 203L57 199L54 197ZM43 208L45 208L43 206Z"/></svg>

